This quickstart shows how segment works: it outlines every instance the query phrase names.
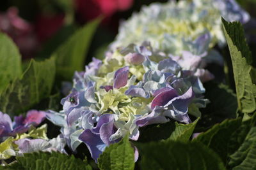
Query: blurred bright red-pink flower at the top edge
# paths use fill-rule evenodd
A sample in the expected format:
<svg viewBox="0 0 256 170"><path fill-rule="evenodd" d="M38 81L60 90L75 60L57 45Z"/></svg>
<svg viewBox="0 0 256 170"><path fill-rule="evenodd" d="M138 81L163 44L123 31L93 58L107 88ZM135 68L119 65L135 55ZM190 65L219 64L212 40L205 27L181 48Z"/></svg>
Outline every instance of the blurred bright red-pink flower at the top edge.
<svg viewBox="0 0 256 170"><path fill-rule="evenodd" d="M111 17L116 11L125 11L133 0L75 0L77 12L84 20L92 20L103 15Z"/></svg>

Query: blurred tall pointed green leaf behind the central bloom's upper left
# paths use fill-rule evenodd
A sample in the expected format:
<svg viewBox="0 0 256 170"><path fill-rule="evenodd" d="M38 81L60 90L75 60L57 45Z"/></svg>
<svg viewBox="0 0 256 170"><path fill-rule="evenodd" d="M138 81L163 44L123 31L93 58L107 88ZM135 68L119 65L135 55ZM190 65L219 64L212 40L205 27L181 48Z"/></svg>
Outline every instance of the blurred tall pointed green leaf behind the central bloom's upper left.
<svg viewBox="0 0 256 170"><path fill-rule="evenodd" d="M57 74L61 78L70 80L74 71L82 71L84 69L85 56L99 22L99 19L94 20L77 30L53 53L53 56L56 56L57 59Z"/></svg>

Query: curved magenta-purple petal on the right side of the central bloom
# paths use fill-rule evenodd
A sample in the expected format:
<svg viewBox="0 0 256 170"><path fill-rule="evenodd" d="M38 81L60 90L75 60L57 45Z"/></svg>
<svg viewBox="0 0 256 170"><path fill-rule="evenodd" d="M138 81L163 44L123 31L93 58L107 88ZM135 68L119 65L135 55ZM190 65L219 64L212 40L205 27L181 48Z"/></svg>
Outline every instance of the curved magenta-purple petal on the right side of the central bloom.
<svg viewBox="0 0 256 170"><path fill-rule="evenodd" d="M174 97L177 97L178 94L175 89L170 89L159 93L151 103L151 109L153 110L156 106L164 106Z"/></svg>

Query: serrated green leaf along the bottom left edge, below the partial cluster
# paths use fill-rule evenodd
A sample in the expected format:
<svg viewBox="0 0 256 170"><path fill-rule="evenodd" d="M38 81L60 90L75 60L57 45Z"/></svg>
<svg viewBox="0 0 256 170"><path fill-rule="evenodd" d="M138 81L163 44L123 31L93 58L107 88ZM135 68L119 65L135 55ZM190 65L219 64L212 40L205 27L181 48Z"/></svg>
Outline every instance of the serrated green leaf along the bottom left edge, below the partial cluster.
<svg viewBox="0 0 256 170"><path fill-rule="evenodd" d="M35 169L35 170L62 170L62 169L84 169L91 170L92 167L73 155L68 156L58 152L35 152L24 153L24 157L16 157L17 162L3 169ZM19 168L18 168L19 167Z"/></svg>

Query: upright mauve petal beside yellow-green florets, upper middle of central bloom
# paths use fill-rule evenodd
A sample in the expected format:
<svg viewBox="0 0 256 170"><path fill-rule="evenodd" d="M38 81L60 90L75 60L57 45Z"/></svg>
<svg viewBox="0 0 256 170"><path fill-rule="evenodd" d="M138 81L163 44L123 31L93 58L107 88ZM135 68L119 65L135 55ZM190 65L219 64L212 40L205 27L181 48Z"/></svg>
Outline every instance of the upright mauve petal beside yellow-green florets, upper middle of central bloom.
<svg viewBox="0 0 256 170"><path fill-rule="evenodd" d="M129 67L122 67L118 69L115 73L115 80L113 87L115 89L120 89L127 84L129 74Z"/></svg>

